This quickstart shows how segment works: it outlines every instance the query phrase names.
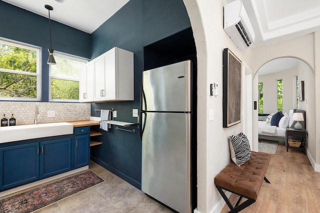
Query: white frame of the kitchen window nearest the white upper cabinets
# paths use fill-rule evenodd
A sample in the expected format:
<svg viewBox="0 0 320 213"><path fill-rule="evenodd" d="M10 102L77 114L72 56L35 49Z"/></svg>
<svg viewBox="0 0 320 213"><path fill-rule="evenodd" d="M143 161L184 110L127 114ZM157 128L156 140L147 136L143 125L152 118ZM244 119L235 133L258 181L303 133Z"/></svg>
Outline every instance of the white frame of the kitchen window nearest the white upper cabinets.
<svg viewBox="0 0 320 213"><path fill-rule="evenodd" d="M70 55L67 53L59 52L59 51L54 51L53 55L56 55L58 57L64 57L72 60L78 60L87 63L88 60L82 57L78 57L75 55ZM71 81L78 81L79 82L79 87L80 87L80 75L79 78L74 78L74 77L57 77L57 76L52 76L51 75L51 66L54 65L49 65L49 94L48 94L48 100L49 102L80 102L79 99L56 99L51 97L51 84L52 84L52 78L54 79L59 79L59 80L71 80Z"/></svg>

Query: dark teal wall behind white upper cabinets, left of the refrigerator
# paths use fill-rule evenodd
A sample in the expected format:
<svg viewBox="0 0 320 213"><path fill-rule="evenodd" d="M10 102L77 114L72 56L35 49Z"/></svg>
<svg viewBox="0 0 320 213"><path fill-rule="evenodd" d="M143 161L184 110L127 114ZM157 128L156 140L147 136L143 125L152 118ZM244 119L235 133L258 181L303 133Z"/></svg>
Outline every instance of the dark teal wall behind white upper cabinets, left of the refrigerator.
<svg viewBox="0 0 320 213"><path fill-rule="evenodd" d="M91 58L114 46L134 53L134 100L92 103L91 115L100 115L93 111L94 108L114 108L117 111L115 120L135 123L132 108L139 109L143 47L190 26L182 0L130 0L97 28L92 33ZM103 131L102 144L91 147L91 156L100 165L140 188L141 140L136 126L127 129L132 128L135 128L135 133L117 130L115 125L110 131Z"/></svg>

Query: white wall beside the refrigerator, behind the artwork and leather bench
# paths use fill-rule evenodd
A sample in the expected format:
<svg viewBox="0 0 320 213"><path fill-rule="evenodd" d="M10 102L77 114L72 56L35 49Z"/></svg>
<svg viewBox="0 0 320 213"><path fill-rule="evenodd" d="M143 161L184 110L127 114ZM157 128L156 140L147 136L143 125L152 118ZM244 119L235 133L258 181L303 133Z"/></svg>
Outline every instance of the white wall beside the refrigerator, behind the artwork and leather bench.
<svg viewBox="0 0 320 213"><path fill-rule="evenodd" d="M225 204L214 186L214 177L229 162L228 137L243 131L243 122L222 127L222 51L228 47L250 66L252 50L240 51L223 30L226 0L183 0L190 17L197 50L197 212L219 212ZM203 26L203 28L201 27ZM218 96L209 96L209 84L220 85ZM242 79L243 82L243 79ZM243 104L242 104L243 107ZM208 120L208 110L214 120ZM243 113L243 111L242 111Z"/></svg>

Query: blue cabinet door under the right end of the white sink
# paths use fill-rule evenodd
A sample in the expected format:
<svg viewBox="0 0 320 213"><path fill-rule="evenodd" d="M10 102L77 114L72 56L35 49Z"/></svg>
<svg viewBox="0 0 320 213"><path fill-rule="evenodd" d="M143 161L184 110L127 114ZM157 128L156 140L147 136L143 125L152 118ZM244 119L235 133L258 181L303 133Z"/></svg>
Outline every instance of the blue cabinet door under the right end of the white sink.
<svg viewBox="0 0 320 213"><path fill-rule="evenodd" d="M71 170L71 138L40 142L40 178Z"/></svg>

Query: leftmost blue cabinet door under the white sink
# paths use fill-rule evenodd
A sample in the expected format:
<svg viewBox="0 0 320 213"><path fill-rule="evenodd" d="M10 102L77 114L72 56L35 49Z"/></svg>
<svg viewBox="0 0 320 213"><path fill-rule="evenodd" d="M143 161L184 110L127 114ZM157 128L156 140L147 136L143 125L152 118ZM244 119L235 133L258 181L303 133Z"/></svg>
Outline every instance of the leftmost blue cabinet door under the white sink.
<svg viewBox="0 0 320 213"><path fill-rule="evenodd" d="M39 179L39 143L0 148L0 190Z"/></svg>

